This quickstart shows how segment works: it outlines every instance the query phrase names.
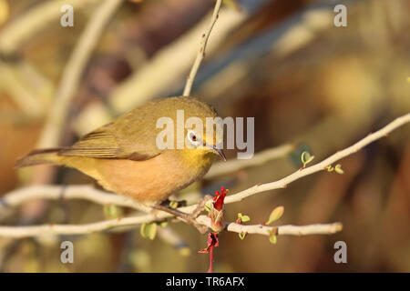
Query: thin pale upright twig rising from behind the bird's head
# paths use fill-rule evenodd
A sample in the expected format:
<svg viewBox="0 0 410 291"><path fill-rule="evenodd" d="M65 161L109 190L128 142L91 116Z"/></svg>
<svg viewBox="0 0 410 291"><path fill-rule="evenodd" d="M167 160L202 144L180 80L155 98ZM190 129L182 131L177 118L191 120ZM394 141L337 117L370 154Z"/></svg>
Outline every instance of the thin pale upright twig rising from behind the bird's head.
<svg viewBox="0 0 410 291"><path fill-rule="evenodd" d="M210 26L208 27L208 30L205 32L205 34L201 35L200 37L200 50L198 51L197 57L195 58L195 62L192 65L192 68L190 69L190 75L188 75L187 83L185 84L184 88L184 96L190 95L190 89L192 88L195 75L197 75L198 69L200 68L200 63L205 57L205 49L207 46L208 38L210 37L210 32L212 31L213 25L215 25L218 19L221 4L222 0L217 0L215 8L213 9L212 18L210 19Z"/></svg>

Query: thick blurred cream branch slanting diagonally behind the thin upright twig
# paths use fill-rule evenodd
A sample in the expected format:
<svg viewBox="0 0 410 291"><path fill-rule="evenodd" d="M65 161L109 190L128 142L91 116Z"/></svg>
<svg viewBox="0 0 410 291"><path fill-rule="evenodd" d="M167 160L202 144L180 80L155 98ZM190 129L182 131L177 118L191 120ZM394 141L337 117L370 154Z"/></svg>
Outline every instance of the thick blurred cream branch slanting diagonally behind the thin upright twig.
<svg viewBox="0 0 410 291"><path fill-rule="evenodd" d="M212 31L212 41L207 45L207 52L222 44L231 30L250 16L234 9L224 11L223 17L218 20L218 30ZM179 83L181 75L190 71L192 60L198 53L198 36L207 30L208 18L201 20L171 44L162 47L147 64L139 66L132 75L118 84L108 97L112 111L121 114L160 95L169 94L169 88ZM172 74L169 74L169 68L172 68ZM83 112L88 109L86 107ZM84 114L87 115L86 112Z"/></svg>

